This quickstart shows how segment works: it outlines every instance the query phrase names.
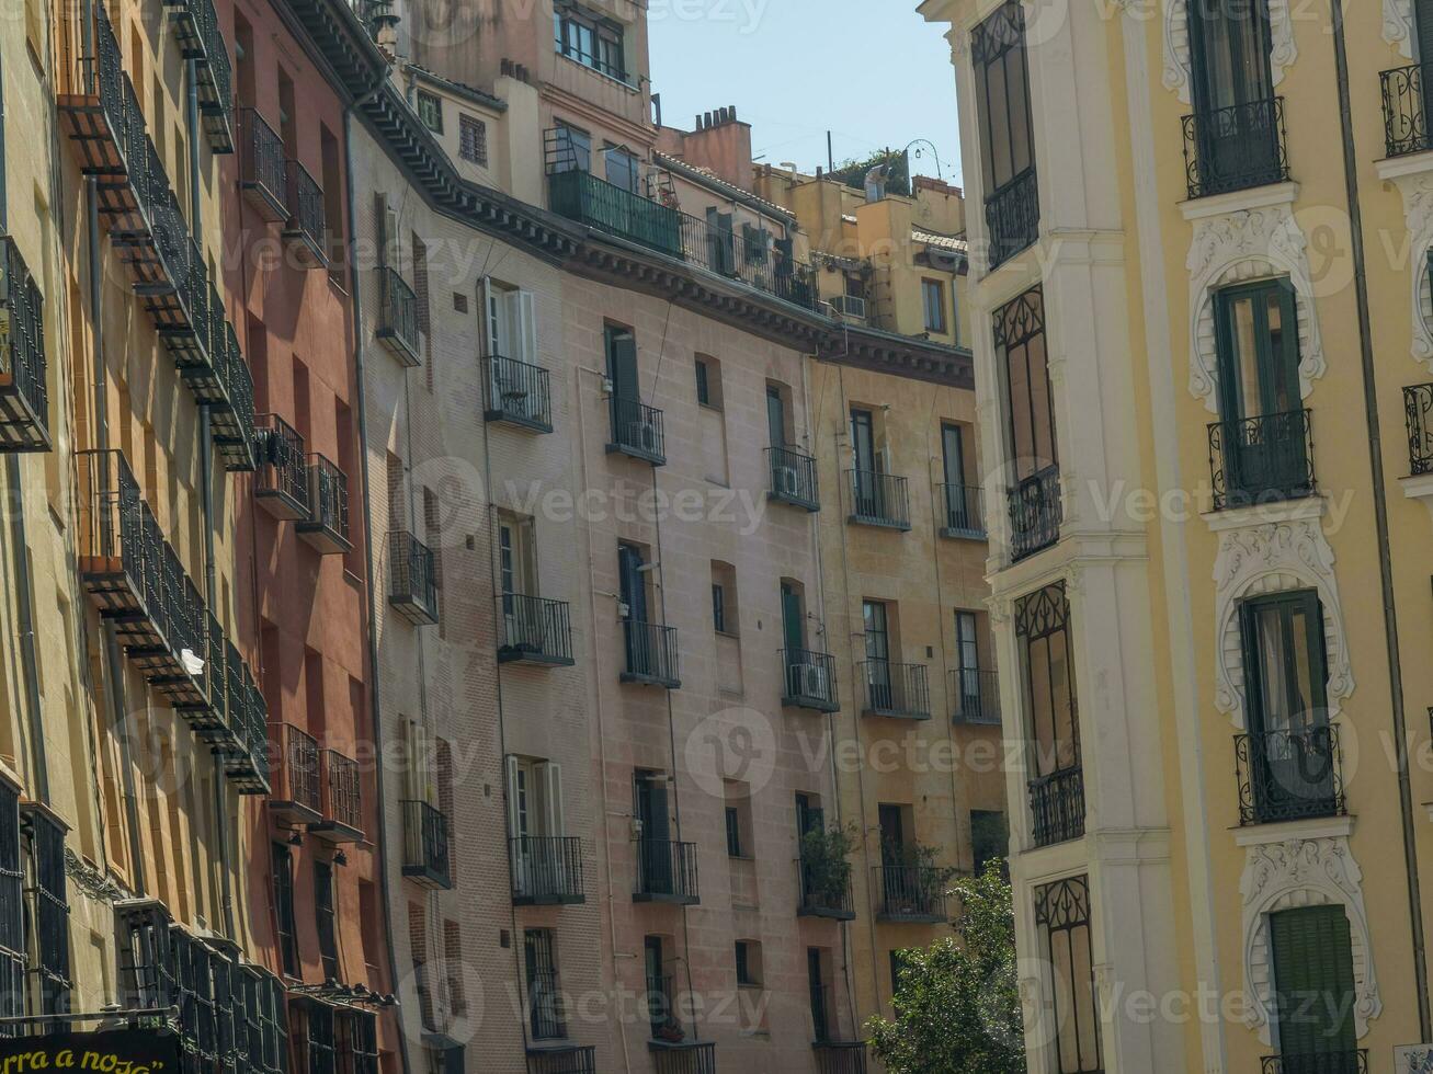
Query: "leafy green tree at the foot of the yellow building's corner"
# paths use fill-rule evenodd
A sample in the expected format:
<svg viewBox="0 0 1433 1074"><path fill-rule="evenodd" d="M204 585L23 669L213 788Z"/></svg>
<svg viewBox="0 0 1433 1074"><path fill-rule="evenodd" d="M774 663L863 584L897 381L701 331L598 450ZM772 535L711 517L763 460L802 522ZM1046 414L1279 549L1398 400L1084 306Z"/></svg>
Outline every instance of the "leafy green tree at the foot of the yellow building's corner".
<svg viewBox="0 0 1433 1074"><path fill-rule="evenodd" d="M950 889L956 937L901 952L896 1021L866 1022L887 1074L1025 1074L1015 912L1003 862Z"/></svg>

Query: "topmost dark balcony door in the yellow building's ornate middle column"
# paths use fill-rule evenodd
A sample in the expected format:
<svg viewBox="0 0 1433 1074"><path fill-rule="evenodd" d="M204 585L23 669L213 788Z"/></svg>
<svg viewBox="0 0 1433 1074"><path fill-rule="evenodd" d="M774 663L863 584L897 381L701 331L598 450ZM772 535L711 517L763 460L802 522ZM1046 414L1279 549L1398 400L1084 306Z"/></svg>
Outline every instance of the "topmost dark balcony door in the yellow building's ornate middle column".
<svg viewBox="0 0 1433 1074"><path fill-rule="evenodd" d="M1245 183L1235 182L1235 176L1277 170L1267 0L1191 0L1189 54L1204 189L1238 189Z"/></svg>

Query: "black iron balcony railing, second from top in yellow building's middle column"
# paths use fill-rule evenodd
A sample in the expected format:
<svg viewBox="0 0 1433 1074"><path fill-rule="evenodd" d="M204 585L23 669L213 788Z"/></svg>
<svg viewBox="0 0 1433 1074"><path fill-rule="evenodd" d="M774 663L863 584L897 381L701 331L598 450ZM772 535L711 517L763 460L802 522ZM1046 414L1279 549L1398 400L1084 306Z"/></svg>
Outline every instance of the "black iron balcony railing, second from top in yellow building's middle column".
<svg viewBox="0 0 1433 1074"><path fill-rule="evenodd" d="M1307 410L1209 425L1214 510L1313 495L1314 432Z"/></svg>

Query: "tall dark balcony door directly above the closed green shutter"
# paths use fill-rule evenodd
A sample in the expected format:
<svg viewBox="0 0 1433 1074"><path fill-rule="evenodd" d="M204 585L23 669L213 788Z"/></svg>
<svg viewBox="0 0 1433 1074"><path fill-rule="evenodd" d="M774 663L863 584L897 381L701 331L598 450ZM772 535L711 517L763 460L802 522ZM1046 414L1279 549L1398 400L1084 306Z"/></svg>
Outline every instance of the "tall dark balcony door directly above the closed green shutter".
<svg viewBox="0 0 1433 1074"><path fill-rule="evenodd" d="M1334 749L1318 596L1260 597L1245 601L1240 617L1255 811L1270 818L1333 812Z"/></svg>

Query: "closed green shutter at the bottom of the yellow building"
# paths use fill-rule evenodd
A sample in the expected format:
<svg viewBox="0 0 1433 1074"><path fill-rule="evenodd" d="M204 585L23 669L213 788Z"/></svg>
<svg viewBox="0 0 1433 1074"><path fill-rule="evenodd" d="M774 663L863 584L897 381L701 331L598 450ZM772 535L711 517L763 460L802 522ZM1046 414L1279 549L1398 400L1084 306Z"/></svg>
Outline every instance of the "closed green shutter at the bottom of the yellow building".
<svg viewBox="0 0 1433 1074"><path fill-rule="evenodd" d="M1280 911L1270 915L1268 934L1280 1054L1353 1053L1353 941L1344 908Z"/></svg>

